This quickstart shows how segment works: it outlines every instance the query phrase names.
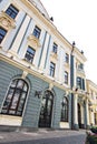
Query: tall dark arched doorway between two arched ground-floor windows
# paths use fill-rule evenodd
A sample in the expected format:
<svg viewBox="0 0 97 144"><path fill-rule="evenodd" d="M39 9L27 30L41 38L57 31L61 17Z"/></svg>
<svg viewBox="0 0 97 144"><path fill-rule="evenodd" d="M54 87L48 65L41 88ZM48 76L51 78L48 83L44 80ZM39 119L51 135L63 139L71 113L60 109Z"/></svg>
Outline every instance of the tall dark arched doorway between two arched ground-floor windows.
<svg viewBox="0 0 97 144"><path fill-rule="evenodd" d="M49 90L47 90L41 101L39 127L51 126L52 105L54 105L54 94Z"/></svg>

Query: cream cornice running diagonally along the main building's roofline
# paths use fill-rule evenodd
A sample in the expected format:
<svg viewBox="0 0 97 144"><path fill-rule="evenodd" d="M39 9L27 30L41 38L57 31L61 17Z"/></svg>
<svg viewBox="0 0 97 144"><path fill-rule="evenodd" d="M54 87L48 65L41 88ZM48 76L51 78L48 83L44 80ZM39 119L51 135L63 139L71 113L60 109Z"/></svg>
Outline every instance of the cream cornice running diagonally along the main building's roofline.
<svg viewBox="0 0 97 144"><path fill-rule="evenodd" d="M69 50L72 50L72 44L58 31L58 29L55 27L55 24L50 21L50 19L47 19L45 17L43 13L41 13L39 11L39 9L37 9L31 2L29 2L28 0L21 0L30 10L32 10L32 12L47 25L47 28L49 28L49 33L54 33L60 41L62 44L67 45L69 48ZM81 52L75 48L75 52L77 52L77 54L84 60L87 61L87 59L85 58L84 54L81 54Z"/></svg>

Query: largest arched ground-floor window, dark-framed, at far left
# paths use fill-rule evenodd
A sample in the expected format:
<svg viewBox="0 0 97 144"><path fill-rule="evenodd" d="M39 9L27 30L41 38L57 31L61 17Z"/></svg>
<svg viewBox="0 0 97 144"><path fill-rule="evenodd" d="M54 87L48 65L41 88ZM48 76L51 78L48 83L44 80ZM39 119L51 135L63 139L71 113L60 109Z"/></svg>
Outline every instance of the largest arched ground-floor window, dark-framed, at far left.
<svg viewBox="0 0 97 144"><path fill-rule="evenodd" d="M3 102L1 113L21 116L28 94L28 84L25 80L12 80L7 93L7 97Z"/></svg>

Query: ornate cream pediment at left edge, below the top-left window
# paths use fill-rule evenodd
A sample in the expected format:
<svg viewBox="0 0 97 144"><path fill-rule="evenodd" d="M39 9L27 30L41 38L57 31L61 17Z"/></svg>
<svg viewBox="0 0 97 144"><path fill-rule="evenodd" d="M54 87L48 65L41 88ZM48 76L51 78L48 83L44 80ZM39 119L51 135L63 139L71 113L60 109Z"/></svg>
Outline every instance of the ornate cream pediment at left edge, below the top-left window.
<svg viewBox="0 0 97 144"><path fill-rule="evenodd" d="M0 13L0 25L7 30L13 29L16 28L16 21L2 11Z"/></svg>

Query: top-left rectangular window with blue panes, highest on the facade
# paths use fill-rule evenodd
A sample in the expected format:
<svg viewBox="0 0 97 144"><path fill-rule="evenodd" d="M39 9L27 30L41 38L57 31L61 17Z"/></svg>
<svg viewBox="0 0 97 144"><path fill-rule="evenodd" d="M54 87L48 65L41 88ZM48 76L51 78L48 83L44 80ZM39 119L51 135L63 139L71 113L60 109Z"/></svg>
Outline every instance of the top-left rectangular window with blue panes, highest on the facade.
<svg viewBox="0 0 97 144"><path fill-rule="evenodd" d="M6 10L6 13L10 16L12 19L14 19L18 14L19 10L14 8L12 4L9 6L9 8Z"/></svg>

